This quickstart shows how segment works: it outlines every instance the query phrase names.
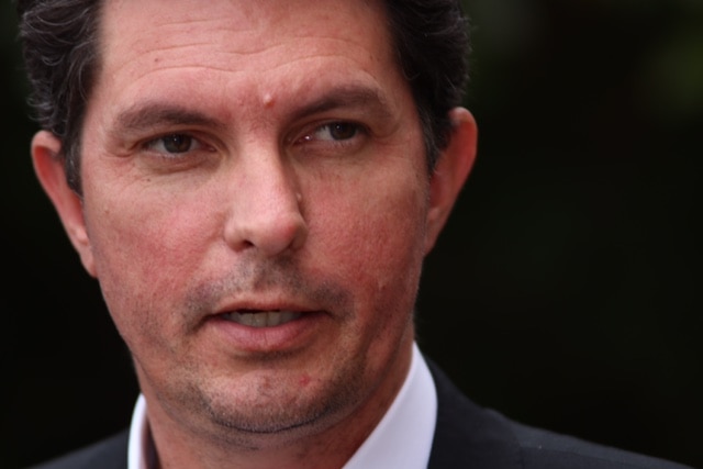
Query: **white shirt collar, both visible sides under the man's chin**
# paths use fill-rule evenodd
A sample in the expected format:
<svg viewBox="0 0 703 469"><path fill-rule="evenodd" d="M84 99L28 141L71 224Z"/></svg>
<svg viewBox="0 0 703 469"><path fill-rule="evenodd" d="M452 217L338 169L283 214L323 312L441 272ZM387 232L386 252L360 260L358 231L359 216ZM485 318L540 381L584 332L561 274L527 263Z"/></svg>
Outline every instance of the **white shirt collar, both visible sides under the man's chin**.
<svg viewBox="0 0 703 469"><path fill-rule="evenodd" d="M413 345L410 371L395 400L343 469L425 469L437 421L437 392L429 368ZM132 414L127 469L150 469L154 444L140 395Z"/></svg>

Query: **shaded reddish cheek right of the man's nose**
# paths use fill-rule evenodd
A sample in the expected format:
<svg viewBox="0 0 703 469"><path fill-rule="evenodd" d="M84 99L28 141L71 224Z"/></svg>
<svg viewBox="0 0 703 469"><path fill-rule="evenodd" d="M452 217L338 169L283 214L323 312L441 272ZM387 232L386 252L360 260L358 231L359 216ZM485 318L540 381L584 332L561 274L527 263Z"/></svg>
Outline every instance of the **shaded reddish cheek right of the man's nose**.
<svg viewBox="0 0 703 469"><path fill-rule="evenodd" d="M426 192L415 178L377 182L315 197L309 247L313 256L324 253L316 264L357 289L367 308L381 301L408 308L424 254Z"/></svg>

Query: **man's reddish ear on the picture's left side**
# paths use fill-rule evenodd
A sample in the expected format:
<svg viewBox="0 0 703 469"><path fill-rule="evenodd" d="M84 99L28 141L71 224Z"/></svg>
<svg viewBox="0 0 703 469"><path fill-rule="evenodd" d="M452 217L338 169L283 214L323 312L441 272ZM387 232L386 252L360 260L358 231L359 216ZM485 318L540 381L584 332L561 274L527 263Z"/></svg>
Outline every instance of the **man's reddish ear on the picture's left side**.
<svg viewBox="0 0 703 469"><path fill-rule="evenodd" d="M64 158L60 156L62 143L54 134L40 131L32 139L32 161L34 171L44 191L54 203L64 228L70 238L86 270L96 276L92 249L83 221L82 201L68 187Z"/></svg>

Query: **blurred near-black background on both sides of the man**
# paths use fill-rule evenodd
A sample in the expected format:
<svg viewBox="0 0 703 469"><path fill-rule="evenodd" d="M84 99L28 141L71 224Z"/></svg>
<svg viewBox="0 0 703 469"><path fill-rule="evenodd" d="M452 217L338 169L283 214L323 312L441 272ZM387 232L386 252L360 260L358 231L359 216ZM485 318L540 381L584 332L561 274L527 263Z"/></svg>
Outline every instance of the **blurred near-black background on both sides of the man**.
<svg viewBox="0 0 703 469"><path fill-rule="evenodd" d="M703 467L703 1L475 0L479 158L426 261L421 346L479 404ZM127 425L98 284L35 182L0 5L0 467Z"/></svg>

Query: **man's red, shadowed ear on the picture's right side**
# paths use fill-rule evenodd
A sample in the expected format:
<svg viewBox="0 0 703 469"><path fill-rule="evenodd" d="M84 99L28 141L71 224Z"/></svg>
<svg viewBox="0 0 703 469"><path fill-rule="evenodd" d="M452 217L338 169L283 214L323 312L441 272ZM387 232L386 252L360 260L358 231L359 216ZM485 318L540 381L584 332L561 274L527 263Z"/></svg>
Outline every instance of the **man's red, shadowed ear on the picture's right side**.
<svg viewBox="0 0 703 469"><path fill-rule="evenodd" d="M449 111L449 119L453 125L449 143L440 152L429 179L425 254L434 247L476 159L478 129L473 115L464 108L455 108Z"/></svg>

